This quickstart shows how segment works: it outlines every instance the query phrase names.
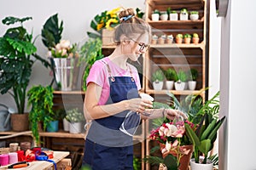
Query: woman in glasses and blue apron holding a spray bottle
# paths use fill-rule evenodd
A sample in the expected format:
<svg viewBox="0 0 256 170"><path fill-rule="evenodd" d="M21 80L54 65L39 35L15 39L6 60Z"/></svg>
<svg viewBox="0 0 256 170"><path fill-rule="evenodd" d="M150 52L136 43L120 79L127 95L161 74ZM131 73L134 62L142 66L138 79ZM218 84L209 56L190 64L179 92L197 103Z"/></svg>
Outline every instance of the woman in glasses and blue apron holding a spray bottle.
<svg viewBox="0 0 256 170"><path fill-rule="evenodd" d="M137 18L131 8L119 13L120 24L115 29L117 47L113 54L97 60L87 78L84 116L91 120L84 147L83 165L94 170L133 169L132 134L140 119L183 113L172 109L147 109L153 103L141 99L136 67L127 59L137 61L148 49L150 26Z"/></svg>

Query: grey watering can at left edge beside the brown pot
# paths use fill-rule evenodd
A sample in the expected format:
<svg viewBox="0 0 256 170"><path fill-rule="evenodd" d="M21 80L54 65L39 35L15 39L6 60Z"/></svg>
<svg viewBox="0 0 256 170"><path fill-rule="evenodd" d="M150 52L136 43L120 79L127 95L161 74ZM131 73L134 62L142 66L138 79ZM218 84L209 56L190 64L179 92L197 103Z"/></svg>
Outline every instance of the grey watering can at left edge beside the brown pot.
<svg viewBox="0 0 256 170"><path fill-rule="evenodd" d="M9 131L11 129L10 114L12 111L6 105L0 104L0 107L4 108L4 110L0 110L0 132Z"/></svg>

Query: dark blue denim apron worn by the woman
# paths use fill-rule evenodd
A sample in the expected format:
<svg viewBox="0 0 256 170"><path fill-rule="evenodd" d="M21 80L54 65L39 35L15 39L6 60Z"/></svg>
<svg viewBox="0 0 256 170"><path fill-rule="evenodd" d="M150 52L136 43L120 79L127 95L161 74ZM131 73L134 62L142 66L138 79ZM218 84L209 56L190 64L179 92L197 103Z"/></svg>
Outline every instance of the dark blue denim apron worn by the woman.
<svg viewBox="0 0 256 170"><path fill-rule="evenodd" d="M103 61L105 63L105 61ZM113 77L109 65L108 81L110 94L107 104L117 103L125 99L138 98L137 85L132 77ZM119 130L125 116L131 111L122 111L113 116L96 119L91 122L84 146L83 165L89 165L92 170L123 170L133 169L132 136ZM139 120L136 112L131 114L132 120ZM137 128L138 123L131 123L129 127Z"/></svg>

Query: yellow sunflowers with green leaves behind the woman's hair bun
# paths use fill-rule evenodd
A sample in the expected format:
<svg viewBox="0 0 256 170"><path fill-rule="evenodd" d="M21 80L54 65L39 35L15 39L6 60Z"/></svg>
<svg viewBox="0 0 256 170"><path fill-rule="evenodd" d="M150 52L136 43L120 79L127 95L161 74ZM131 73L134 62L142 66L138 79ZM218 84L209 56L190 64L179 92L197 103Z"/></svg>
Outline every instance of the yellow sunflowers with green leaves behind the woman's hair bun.
<svg viewBox="0 0 256 170"><path fill-rule="evenodd" d="M109 11L104 11L102 14L96 14L93 20L90 21L90 27L96 33L87 32L89 37L102 37L102 28L112 30L114 26L119 25L118 13L121 8L113 8Z"/></svg>

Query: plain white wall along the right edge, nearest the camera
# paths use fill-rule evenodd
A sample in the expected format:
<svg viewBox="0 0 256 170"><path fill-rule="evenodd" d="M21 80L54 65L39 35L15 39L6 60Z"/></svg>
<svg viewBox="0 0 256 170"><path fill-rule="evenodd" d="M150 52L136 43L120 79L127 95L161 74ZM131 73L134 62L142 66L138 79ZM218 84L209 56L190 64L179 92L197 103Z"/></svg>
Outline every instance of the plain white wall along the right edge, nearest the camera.
<svg viewBox="0 0 256 170"><path fill-rule="evenodd" d="M220 106L228 119L219 137L220 170L256 169L255 6L230 0L222 19Z"/></svg>

